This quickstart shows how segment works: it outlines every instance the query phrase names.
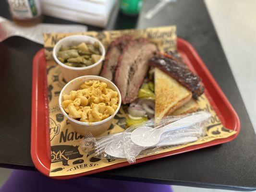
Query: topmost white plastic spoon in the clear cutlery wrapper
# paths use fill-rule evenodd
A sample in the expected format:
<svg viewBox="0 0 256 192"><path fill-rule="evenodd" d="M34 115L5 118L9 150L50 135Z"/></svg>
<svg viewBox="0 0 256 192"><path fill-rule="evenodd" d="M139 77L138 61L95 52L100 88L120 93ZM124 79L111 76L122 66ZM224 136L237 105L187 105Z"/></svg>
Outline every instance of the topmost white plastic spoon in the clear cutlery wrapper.
<svg viewBox="0 0 256 192"><path fill-rule="evenodd" d="M131 140L134 144L139 146L149 147L158 144L161 135L164 132L176 131L179 129L184 129L191 127L199 122L204 122L211 117L210 113L207 112L198 112L194 115L190 115L183 119L172 122L162 128L154 129L151 127L143 126L140 127L131 134Z"/></svg>

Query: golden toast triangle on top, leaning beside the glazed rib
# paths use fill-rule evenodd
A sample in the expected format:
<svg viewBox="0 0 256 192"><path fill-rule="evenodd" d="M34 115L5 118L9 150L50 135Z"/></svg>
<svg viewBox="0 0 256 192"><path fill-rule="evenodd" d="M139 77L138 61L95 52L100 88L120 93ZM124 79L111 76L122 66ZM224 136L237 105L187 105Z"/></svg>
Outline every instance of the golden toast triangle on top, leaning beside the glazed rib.
<svg viewBox="0 0 256 192"><path fill-rule="evenodd" d="M192 93L167 73L155 68L155 117L163 118L192 98Z"/></svg>

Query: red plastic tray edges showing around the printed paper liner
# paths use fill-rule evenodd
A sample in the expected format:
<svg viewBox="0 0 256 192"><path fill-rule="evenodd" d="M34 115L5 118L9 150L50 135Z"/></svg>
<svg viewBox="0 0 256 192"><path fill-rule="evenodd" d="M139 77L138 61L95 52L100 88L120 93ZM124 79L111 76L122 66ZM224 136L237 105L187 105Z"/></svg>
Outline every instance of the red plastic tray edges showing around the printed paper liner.
<svg viewBox="0 0 256 192"><path fill-rule="evenodd" d="M206 87L206 96L212 106L216 106L215 111L222 124L229 129L235 130L236 134L223 139L216 139L204 144L188 146L182 149L147 156L136 160L136 163L150 161L153 159L172 156L196 149L223 144L232 141L240 131L240 120L227 97L221 91L219 85L208 71L204 62L196 53L195 49L185 40L178 38L177 48L185 63L196 72ZM31 156L35 167L44 175L49 177L50 171L50 144L49 144L49 111L48 111L48 88L46 80L46 60L44 49L37 52L33 60L32 79L32 118L31 118ZM88 174L98 173L105 170L120 168L130 165L128 162L114 164L105 168L87 171L68 176L52 177L54 179L70 179Z"/></svg>

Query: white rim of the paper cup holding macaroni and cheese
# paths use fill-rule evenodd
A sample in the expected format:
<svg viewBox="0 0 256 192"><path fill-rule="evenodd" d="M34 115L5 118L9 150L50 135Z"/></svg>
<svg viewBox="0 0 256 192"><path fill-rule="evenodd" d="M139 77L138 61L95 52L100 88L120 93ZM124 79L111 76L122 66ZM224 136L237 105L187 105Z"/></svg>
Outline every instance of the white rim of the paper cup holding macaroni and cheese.
<svg viewBox="0 0 256 192"><path fill-rule="evenodd" d="M97 121L97 122L83 122L83 121L80 121L80 120L75 120L71 117L68 116L68 114L64 111L62 105L61 105L61 100L62 100L62 93L63 93L63 90L69 86L69 84L72 84L74 81L78 80L78 79L83 79L85 77L88 77L88 80L100 80L102 82L108 82L110 84L112 84L114 87L115 87L115 91L118 93L118 96L119 96L119 102L118 102L118 107L117 109L115 110L114 114L111 115L110 117L108 117L107 119L105 120L100 120L100 121ZM86 80L87 81L87 80ZM79 125L86 125L86 126L90 126L90 125L100 125L106 121L109 121L111 120L112 118L114 118L114 116L117 114L117 112L119 111L120 107L121 107L121 103L122 103L122 98L121 98L121 93L119 91L119 89L117 88L117 86L111 82L110 80L104 78L104 77L100 77L100 76L97 76L97 75L85 75L85 76L81 76L81 77L77 77L73 80L71 80L69 83L67 83L62 89L61 89L61 93L60 93L60 96L59 96L59 107L61 109L61 112L62 114L70 121L74 122L74 123L77 123Z"/></svg>

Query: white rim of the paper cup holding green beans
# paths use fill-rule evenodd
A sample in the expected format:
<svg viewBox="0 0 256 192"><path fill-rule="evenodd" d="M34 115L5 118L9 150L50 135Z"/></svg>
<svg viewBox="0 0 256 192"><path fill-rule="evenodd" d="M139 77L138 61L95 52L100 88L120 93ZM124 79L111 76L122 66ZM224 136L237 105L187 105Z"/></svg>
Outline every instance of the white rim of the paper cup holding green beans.
<svg viewBox="0 0 256 192"><path fill-rule="evenodd" d="M60 60L58 60L58 58L57 58L57 50L56 50L57 48L56 48L56 47L58 47L59 45L61 45L61 43L67 41L68 39L74 38L74 37L76 37L76 38L81 38L81 37L83 38L83 37L86 37L86 38L88 38L88 39L97 41L98 44L99 44L99 46L102 48L102 53L101 53L102 55L101 55L101 58L100 58L96 63L94 63L94 64L92 64L92 65L89 65L89 66L86 66L86 67L71 67L71 66L65 65L65 64L62 63ZM106 54L106 50L105 50L103 44L102 44L97 38L94 38L94 37L91 37L91 36L85 36L85 35L66 36L66 37L62 38L61 40L59 40L59 41L55 44L55 46L54 46L54 48L53 48L53 51L52 51L53 59L54 59L59 65L61 65L61 67L64 67L64 68L66 68L66 69L71 69L71 70L77 70L77 71L79 71L79 70L85 70L85 69L91 69L91 68L97 66L98 64L100 64L100 63L104 60L105 54Z"/></svg>

